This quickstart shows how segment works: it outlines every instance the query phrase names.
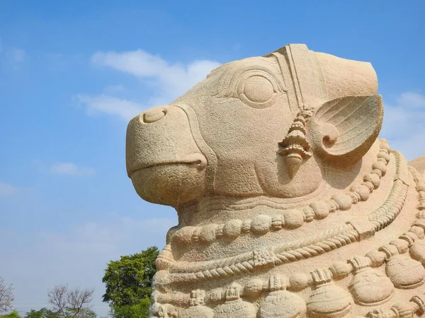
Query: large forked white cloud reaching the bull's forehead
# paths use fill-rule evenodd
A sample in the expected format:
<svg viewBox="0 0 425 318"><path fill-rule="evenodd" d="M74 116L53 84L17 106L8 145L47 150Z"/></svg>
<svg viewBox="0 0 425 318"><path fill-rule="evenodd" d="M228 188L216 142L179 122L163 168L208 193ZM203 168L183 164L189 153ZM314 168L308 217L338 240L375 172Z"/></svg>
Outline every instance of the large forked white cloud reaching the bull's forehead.
<svg viewBox="0 0 425 318"><path fill-rule="evenodd" d="M154 105L168 104L187 90L202 81L220 63L209 60L196 60L188 64L169 63L159 57L139 49L131 52L96 52L91 57L92 64L110 67L142 79L142 83L156 88L155 94L145 97L144 105L112 95L78 95L77 100L87 106L90 113L103 112L128 120ZM108 93L111 87L106 88ZM122 91L120 87L120 91Z"/></svg>

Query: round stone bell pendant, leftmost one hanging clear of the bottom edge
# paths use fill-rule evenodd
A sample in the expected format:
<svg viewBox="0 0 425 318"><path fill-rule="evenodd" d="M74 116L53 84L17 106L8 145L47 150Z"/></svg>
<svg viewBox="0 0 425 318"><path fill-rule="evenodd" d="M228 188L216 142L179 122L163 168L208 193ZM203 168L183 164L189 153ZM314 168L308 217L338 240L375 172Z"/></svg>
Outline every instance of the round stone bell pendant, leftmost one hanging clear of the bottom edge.
<svg viewBox="0 0 425 318"><path fill-rule="evenodd" d="M363 306L379 305L389 300L394 292L394 285L384 273L370 268L370 259L354 257L353 279L348 285L354 302Z"/></svg>

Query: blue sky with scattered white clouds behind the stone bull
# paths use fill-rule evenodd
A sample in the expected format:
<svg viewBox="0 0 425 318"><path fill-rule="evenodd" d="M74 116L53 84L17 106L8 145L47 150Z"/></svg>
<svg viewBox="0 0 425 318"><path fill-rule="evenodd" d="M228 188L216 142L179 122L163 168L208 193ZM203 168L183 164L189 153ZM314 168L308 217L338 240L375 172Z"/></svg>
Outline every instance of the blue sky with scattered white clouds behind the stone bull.
<svg viewBox="0 0 425 318"><path fill-rule="evenodd" d="M215 66L288 43L370 61L381 136L425 154L425 2L0 1L0 276L21 312L59 283L164 246L176 213L137 196L125 129Z"/></svg>

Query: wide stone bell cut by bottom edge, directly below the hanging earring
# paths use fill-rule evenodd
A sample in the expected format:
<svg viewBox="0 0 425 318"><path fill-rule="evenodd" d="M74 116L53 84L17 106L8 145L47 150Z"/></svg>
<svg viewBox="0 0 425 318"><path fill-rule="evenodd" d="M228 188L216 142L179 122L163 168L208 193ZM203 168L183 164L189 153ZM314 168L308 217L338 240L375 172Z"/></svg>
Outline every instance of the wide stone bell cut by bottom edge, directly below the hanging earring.
<svg viewBox="0 0 425 318"><path fill-rule="evenodd" d="M277 275L270 277L270 293L260 306L261 318L298 318L304 317L305 302L294 293L286 290L285 282Z"/></svg>

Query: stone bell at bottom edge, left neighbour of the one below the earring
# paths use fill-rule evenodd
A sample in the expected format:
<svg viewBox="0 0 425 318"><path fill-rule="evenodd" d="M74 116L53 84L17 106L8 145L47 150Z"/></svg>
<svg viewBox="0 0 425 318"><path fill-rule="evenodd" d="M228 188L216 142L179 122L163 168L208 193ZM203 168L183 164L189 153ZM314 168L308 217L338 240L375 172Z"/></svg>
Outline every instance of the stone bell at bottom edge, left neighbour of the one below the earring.
<svg viewBox="0 0 425 318"><path fill-rule="evenodd" d="M232 284L225 293L225 303L215 307L214 318L255 318L256 308L251 302L244 302L240 298L241 288L237 284Z"/></svg>

